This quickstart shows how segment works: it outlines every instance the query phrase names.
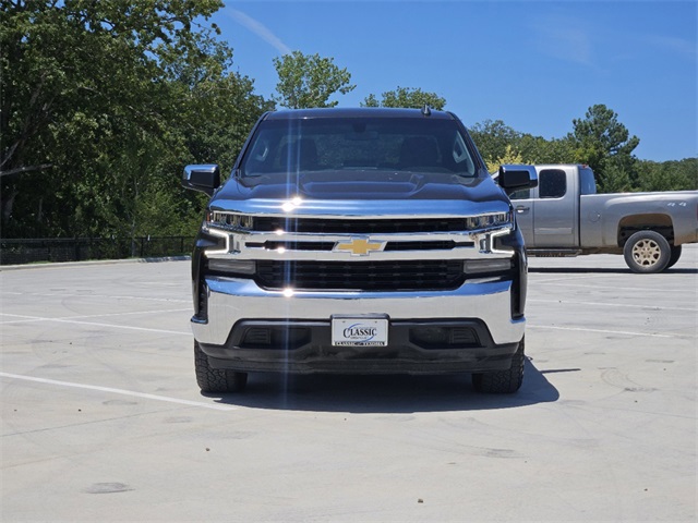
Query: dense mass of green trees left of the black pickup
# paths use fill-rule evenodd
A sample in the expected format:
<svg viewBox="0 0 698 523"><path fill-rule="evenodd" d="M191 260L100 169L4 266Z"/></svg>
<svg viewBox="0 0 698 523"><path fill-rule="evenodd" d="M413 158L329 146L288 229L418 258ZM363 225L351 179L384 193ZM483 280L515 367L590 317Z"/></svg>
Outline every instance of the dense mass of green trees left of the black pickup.
<svg viewBox="0 0 698 523"><path fill-rule="evenodd" d="M186 162L230 168L269 104L231 73L219 0L2 0L4 236L193 232Z"/></svg>

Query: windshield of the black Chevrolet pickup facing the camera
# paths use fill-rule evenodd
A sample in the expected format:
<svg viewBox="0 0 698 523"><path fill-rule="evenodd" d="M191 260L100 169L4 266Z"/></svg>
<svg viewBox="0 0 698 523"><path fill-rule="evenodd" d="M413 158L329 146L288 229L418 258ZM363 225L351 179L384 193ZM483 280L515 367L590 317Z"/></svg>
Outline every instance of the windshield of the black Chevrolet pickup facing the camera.
<svg viewBox="0 0 698 523"><path fill-rule="evenodd" d="M240 170L243 177L344 170L476 175L454 120L412 118L266 120Z"/></svg>

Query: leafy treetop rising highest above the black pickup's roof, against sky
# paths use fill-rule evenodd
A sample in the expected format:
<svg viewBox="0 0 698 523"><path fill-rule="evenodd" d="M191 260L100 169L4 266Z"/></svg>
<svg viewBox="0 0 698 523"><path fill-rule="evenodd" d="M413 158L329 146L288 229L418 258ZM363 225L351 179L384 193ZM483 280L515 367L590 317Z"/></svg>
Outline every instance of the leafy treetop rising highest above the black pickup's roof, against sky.
<svg viewBox="0 0 698 523"><path fill-rule="evenodd" d="M274 99L289 109L310 107L335 107L338 101L329 98L336 93L346 95L357 86L351 85L351 74L339 69L333 58L320 54L303 54L293 51L274 59L279 77Z"/></svg>

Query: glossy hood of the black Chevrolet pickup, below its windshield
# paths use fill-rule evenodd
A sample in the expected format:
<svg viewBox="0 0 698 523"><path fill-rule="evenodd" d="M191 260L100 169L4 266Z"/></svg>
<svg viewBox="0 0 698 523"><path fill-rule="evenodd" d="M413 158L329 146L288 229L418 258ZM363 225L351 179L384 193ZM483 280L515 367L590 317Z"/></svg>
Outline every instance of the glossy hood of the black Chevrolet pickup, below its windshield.
<svg viewBox="0 0 698 523"><path fill-rule="evenodd" d="M490 177L395 171L317 171L230 179L210 208L300 215L464 216L505 212L509 202Z"/></svg>

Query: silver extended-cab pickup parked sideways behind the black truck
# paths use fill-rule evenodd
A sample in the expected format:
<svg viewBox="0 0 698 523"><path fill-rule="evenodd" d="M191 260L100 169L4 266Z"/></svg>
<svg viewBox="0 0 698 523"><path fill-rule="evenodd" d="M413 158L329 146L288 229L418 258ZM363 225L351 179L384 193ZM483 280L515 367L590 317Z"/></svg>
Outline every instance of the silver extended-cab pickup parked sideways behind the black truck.
<svg viewBox="0 0 698 523"><path fill-rule="evenodd" d="M595 194L589 167L535 170L539 185L510 195L531 256L623 254L633 271L649 273L698 242L698 191Z"/></svg>

